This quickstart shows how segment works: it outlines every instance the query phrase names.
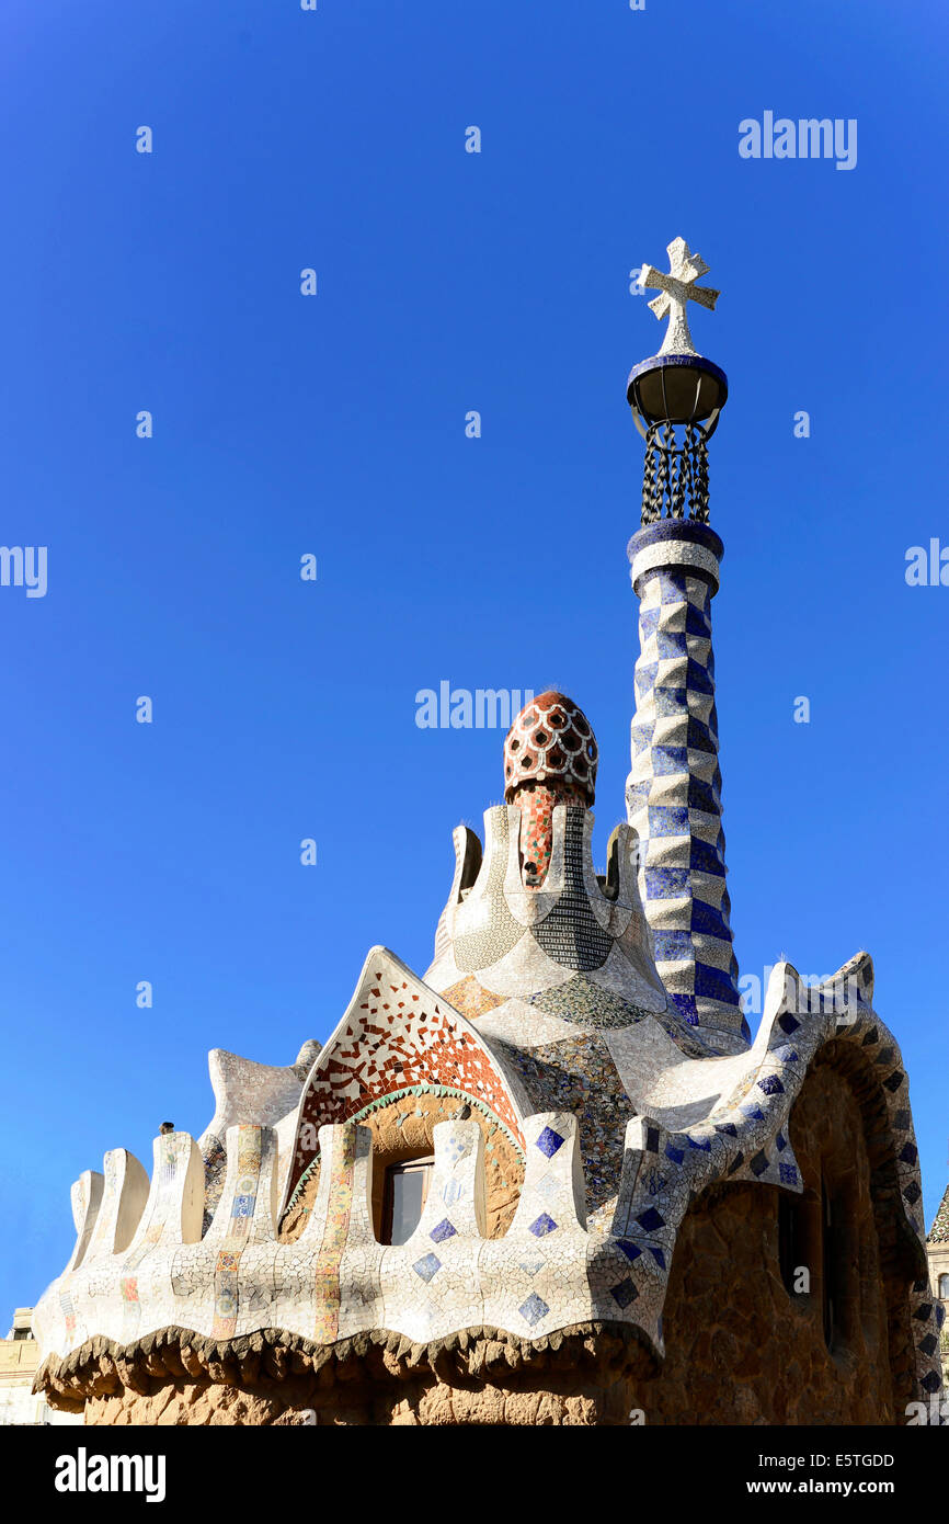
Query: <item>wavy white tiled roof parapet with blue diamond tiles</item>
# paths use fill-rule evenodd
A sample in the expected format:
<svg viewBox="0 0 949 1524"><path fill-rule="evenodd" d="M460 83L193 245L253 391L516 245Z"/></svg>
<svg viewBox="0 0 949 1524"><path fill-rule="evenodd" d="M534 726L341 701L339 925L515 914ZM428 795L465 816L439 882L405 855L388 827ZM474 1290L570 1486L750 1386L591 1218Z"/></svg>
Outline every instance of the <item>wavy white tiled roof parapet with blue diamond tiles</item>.
<svg viewBox="0 0 949 1524"><path fill-rule="evenodd" d="M766 1045L728 1061L734 1082L717 1097L711 1093L701 1117L678 1129L650 1116L628 1119L612 1196L593 1216L591 1169L583 1167L582 1128L570 1108L519 1119L524 1183L500 1239L484 1237L484 1137L474 1120L434 1128L428 1199L404 1245L375 1239L372 1134L355 1122L320 1129L317 1202L291 1244L276 1239L276 1129L228 1129L225 1184L204 1241L198 1149L186 1134L155 1140L148 1199L120 1253L107 1253L114 1225L102 1237L97 1221L90 1230L76 1193L78 1239L87 1236L88 1250L37 1309L43 1349L64 1355L93 1332L129 1343L169 1324L221 1340L277 1326L334 1343L361 1329L427 1341L483 1326L541 1338L583 1321L618 1320L635 1323L661 1352L666 1286L690 1202L722 1178L800 1190L788 1114L809 1062L832 1038L856 1044L880 1076L903 1212L922 1239L919 1158L899 1050L865 1001L842 1027L832 1009L804 1017L795 1033L798 1061L788 1064L780 1017L794 1004L792 972L781 965L772 975ZM705 1097L707 1062L695 1065L693 1079L693 1091ZM762 1087L778 1070L788 1082ZM689 1061L679 1058L667 1077L670 1100L681 1099L687 1073ZM745 1102L751 1091L760 1097L754 1106ZM623 1122L614 1111L617 1128ZM128 1160L122 1151L107 1158L96 1215L102 1222L114 1224L117 1193L133 1189ZM911 1314L917 1384L928 1393L940 1379L944 1309L925 1280L912 1291Z"/></svg>

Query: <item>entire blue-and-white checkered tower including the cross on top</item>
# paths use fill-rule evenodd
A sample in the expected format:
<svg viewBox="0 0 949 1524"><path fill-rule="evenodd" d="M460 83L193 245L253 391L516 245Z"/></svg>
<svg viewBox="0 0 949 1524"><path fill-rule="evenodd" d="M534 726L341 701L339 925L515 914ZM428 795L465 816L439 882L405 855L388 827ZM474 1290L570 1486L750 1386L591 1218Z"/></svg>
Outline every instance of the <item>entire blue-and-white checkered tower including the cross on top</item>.
<svg viewBox="0 0 949 1524"><path fill-rule="evenodd" d="M722 541L708 526L707 440L728 396L725 373L698 355L685 302L714 306L696 287L707 265L684 239L672 273L646 265L657 317L670 317L658 355L635 366L628 399L646 439L643 527L629 541L640 599L632 770L626 814L638 837L640 896L655 963L684 1020L722 1053L749 1042L725 887L711 599Z"/></svg>

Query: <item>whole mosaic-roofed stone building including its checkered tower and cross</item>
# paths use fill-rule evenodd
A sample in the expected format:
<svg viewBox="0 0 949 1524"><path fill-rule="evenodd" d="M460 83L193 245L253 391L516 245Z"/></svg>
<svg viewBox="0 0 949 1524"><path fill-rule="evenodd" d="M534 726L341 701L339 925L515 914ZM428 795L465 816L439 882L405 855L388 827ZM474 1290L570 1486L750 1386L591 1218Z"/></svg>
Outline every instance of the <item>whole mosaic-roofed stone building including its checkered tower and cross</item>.
<svg viewBox="0 0 949 1524"><path fill-rule="evenodd" d="M532 698L419 974L372 948L324 1047L210 1055L200 1138L73 1187L37 1388L88 1423L902 1423L940 1390L909 1082L858 952L771 974L752 1039L725 888L707 440L682 239L634 367L646 437L626 818ZM932 1237L932 1236L931 1236ZM932 1251L932 1244L929 1245Z"/></svg>

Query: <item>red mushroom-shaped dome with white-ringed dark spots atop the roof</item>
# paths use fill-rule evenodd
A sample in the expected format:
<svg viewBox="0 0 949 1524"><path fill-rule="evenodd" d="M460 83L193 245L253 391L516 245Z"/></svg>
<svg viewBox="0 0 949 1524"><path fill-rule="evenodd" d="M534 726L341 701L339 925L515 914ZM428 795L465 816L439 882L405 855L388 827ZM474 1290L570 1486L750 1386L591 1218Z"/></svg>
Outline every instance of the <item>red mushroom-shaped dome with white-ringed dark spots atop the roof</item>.
<svg viewBox="0 0 949 1524"><path fill-rule="evenodd" d="M597 738L583 710L565 693L539 693L516 716L504 741L504 799L513 803L526 785L576 792L593 805L599 760Z"/></svg>

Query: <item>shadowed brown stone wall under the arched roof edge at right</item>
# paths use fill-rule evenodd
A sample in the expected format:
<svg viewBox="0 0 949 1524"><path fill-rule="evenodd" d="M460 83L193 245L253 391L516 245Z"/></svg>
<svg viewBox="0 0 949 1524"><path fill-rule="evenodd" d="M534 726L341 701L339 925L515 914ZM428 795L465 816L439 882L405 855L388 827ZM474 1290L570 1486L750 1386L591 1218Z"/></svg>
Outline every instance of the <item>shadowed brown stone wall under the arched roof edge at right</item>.
<svg viewBox="0 0 949 1524"><path fill-rule="evenodd" d="M778 1196L716 1186L687 1213L666 1300L666 1361L631 1401L646 1423L893 1423L912 1399L908 1289L919 1273L896 1233L896 1172L879 1084L850 1047L815 1059L791 1113L804 1195L795 1263L809 1294L784 1286ZM824 1337L821 1177L842 1201L838 1315ZM791 1198L788 1198L791 1199Z"/></svg>

